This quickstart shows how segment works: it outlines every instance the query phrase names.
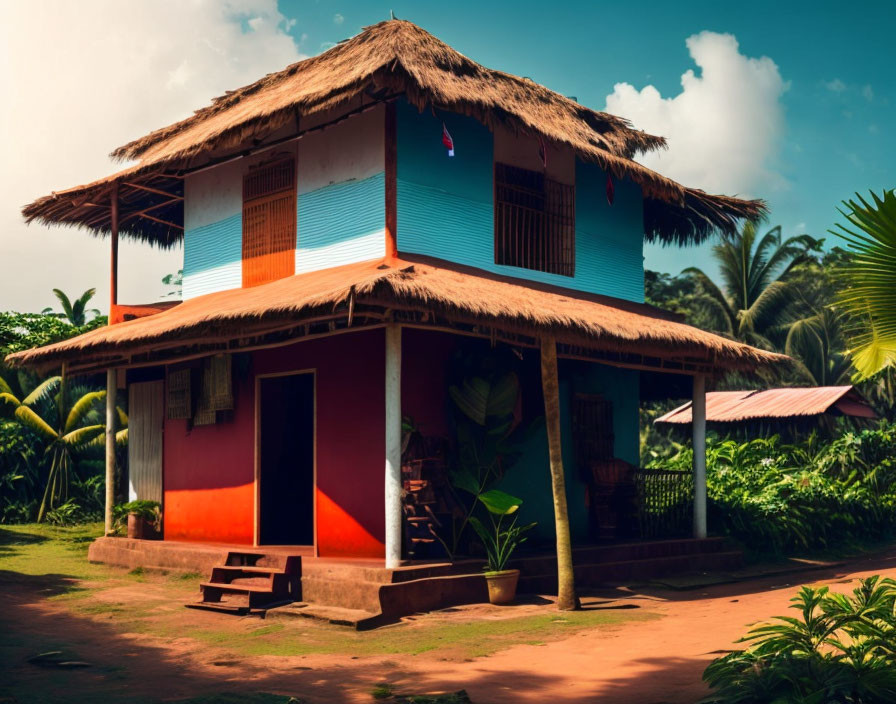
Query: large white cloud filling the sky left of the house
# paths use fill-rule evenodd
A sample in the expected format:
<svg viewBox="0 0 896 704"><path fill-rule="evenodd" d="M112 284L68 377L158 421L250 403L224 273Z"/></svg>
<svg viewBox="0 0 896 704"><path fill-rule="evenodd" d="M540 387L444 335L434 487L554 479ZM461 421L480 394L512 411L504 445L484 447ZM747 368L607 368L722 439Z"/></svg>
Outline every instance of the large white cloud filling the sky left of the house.
<svg viewBox="0 0 896 704"><path fill-rule="evenodd" d="M300 58L276 0L52 0L4 5L0 23L0 310L53 305L50 289L97 287L108 243L25 227L19 209L110 173L107 154L227 89ZM180 253L122 243L122 302L155 299Z"/></svg>

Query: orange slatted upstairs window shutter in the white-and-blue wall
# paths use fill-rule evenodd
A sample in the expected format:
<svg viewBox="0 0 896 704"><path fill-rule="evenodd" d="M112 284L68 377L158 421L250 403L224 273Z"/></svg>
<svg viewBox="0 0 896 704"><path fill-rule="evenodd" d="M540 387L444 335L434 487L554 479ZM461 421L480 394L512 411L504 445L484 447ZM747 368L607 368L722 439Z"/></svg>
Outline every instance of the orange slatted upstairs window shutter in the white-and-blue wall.
<svg viewBox="0 0 896 704"><path fill-rule="evenodd" d="M243 177L243 286L292 276L295 249L296 166L287 157Z"/></svg>

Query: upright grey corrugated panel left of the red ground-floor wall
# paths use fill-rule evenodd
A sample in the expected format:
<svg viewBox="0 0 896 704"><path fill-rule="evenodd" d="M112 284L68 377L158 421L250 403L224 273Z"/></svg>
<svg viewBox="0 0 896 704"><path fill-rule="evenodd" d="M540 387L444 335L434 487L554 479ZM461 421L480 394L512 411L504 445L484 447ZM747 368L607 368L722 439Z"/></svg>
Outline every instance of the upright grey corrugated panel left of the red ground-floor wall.
<svg viewBox="0 0 896 704"><path fill-rule="evenodd" d="M128 387L128 498L162 502L164 381Z"/></svg>

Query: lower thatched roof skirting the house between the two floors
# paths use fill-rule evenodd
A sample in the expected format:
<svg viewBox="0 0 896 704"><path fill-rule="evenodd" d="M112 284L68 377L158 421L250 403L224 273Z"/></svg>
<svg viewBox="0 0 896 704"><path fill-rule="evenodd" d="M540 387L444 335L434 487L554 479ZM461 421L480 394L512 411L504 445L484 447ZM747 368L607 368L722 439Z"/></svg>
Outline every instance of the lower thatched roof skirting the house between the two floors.
<svg viewBox="0 0 896 704"><path fill-rule="evenodd" d="M500 330L535 339L552 335L583 354L650 358L657 367L673 362L703 371L755 369L787 360L685 325L645 304L419 257L348 264L199 296L156 315L18 352L7 362L38 367L68 362L77 369L164 361L165 350L191 354L209 341L235 350L232 343L238 340L275 331L288 330L291 339L311 321L324 321L324 330L333 331L337 321L345 326L354 320L359 327L362 320L382 322L396 312L431 326L467 325L472 326L467 331Z"/></svg>

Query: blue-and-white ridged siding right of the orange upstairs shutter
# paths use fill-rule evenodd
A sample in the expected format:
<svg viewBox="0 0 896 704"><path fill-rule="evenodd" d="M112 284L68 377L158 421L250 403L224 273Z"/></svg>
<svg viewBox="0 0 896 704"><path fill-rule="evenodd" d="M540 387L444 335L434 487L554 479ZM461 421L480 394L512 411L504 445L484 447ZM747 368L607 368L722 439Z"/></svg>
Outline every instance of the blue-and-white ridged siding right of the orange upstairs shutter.
<svg viewBox="0 0 896 704"><path fill-rule="evenodd" d="M300 193L296 273L382 257L385 175Z"/></svg>

